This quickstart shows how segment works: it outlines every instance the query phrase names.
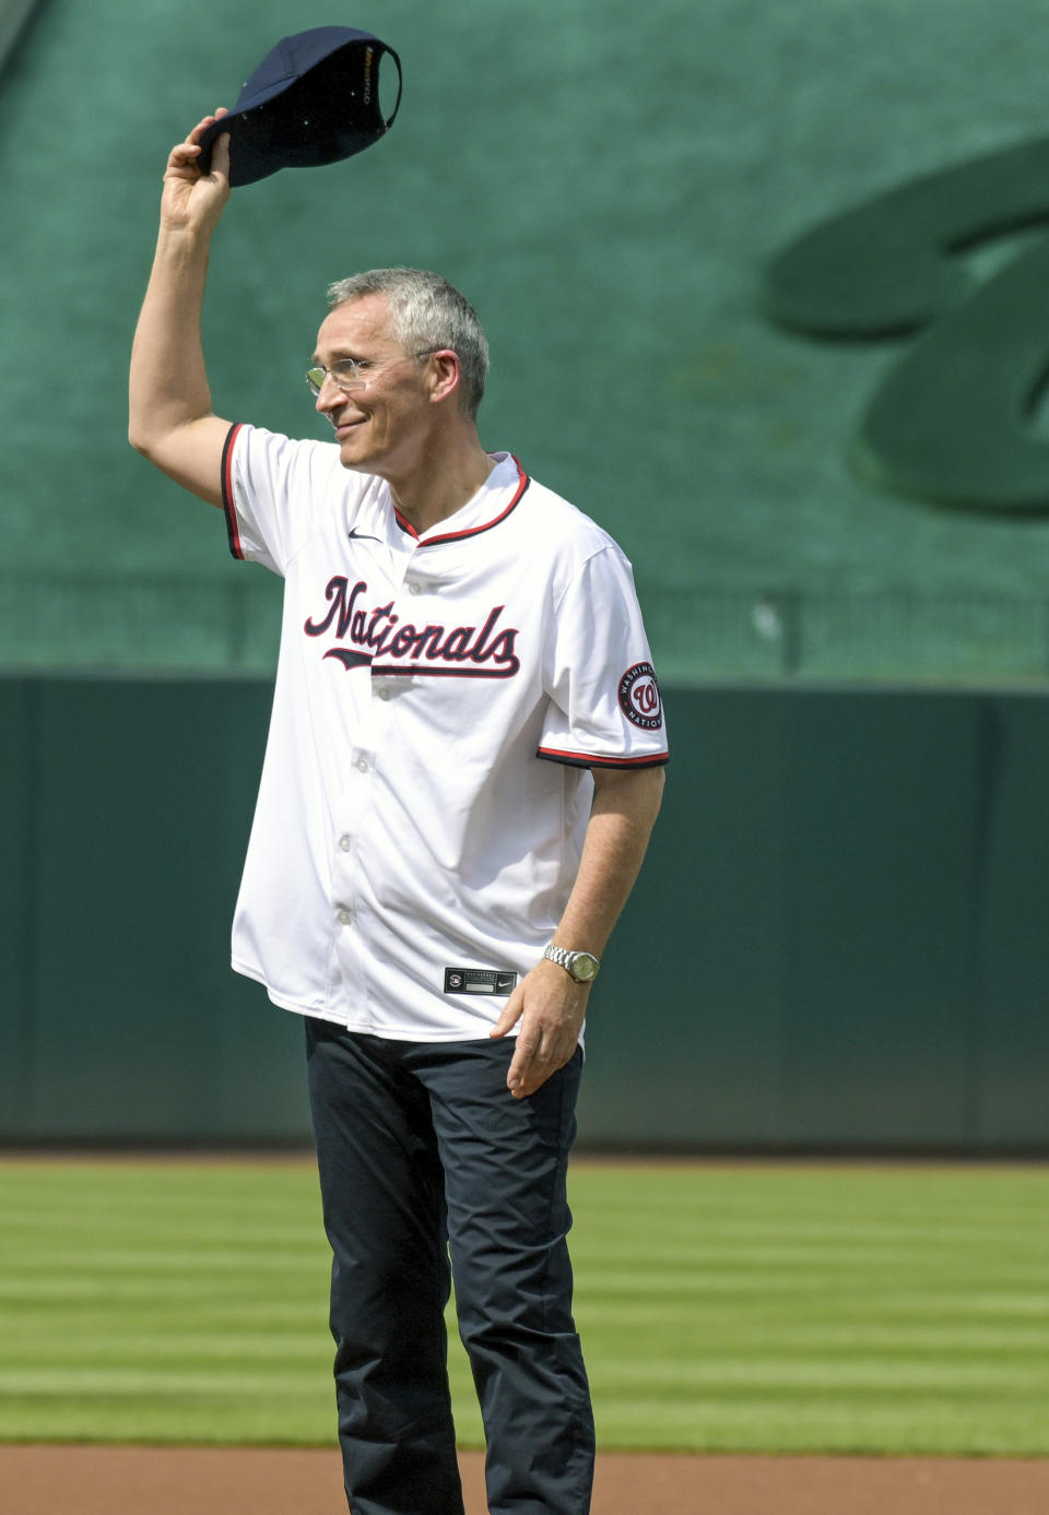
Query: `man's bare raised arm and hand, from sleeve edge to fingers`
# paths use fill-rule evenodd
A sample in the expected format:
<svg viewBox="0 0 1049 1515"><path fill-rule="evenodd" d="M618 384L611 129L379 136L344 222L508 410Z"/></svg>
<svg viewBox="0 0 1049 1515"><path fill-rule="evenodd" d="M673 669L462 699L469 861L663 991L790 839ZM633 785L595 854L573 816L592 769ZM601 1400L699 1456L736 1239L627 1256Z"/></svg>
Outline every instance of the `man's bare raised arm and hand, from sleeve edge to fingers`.
<svg viewBox="0 0 1049 1515"><path fill-rule="evenodd" d="M197 167L205 117L168 155L161 232L130 364L129 441L176 483L221 504L221 456L229 421L211 408L200 339L211 236L229 198L229 138L211 173Z"/></svg>

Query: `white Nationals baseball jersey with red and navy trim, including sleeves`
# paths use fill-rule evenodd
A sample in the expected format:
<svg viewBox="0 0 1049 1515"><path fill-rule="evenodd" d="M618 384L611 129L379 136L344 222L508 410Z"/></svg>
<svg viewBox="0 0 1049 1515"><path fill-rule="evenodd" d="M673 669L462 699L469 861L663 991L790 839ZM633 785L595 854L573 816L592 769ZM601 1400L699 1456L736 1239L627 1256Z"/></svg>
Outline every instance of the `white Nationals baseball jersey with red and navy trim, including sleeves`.
<svg viewBox="0 0 1049 1515"><path fill-rule="evenodd" d="M564 911L590 768L667 758L626 558L493 456L417 535L330 442L226 442L230 550L285 580L232 964L350 1030L487 1036Z"/></svg>

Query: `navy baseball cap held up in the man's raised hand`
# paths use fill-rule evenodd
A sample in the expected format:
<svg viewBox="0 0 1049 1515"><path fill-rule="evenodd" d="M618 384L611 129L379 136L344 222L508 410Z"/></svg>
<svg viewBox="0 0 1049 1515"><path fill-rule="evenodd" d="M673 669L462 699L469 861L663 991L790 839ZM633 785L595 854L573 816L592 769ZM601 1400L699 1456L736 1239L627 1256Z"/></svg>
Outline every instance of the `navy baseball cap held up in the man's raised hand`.
<svg viewBox="0 0 1049 1515"><path fill-rule="evenodd" d="M387 118L379 105L384 56L397 70L397 98ZM230 135L233 188L267 179L279 168L314 168L352 158L393 126L400 83L400 59L370 32L318 26L285 36L244 83L230 114L202 135L197 162L205 173L211 170L211 147L223 132Z"/></svg>

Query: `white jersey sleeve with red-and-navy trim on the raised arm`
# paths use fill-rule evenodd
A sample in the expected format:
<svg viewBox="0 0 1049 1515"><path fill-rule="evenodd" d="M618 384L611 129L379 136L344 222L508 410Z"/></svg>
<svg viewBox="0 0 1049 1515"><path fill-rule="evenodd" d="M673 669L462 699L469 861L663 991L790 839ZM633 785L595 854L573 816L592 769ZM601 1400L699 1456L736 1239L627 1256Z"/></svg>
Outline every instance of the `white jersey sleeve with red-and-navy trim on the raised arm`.
<svg viewBox="0 0 1049 1515"><path fill-rule="evenodd" d="M330 444L293 441L255 426L233 426L223 448L223 511L233 558L283 577L312 535L317 504L332 474Z"/></svg>

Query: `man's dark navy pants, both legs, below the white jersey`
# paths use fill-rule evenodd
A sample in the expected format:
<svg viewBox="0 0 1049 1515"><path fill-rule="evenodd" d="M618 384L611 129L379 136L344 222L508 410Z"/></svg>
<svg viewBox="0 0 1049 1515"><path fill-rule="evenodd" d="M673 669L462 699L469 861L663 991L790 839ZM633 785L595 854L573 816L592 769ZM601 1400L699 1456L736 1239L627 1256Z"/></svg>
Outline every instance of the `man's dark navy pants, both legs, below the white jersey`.
<svg viewBox="0 0 1049 1515"><path fill-rule="evenodd" d="M565 1241L582 1053L514 1100L512 1051L512 1038L397 1042L306 1021L353 1515L462 1515L452 1277L491 1515L590 1510L594 1427Z"/></svg>

